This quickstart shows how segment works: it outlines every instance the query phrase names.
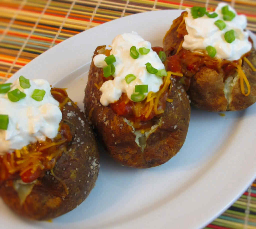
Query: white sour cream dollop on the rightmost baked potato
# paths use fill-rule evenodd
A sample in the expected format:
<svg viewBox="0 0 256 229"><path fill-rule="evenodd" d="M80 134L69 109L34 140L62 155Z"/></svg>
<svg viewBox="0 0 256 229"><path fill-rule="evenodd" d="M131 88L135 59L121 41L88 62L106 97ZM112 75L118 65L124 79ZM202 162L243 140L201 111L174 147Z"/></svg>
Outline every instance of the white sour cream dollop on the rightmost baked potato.
<svg viewBox="0 0 256 229"><path fill-rule="evenodd" d="M226 60L238 60L241 56L249 52L252 48L251 42L248 41L249 33L244 31L247 25L247 19L244 15L237 15L236 11L228 5L228 9L235 13L235 17L231 21L223 20L221 8L227 6L226 3L219 3L215 9L218 14L216 18L209 18L204 15L194 19L190 13L190 9L186 9L188 17L185 17L185 24L188 35L184 36L182 47L190 51L206 50L208 45L216 49L217 58ZM226 28L220 30L214 22L223 20ZM233 29L236 39L232 43L226 42L224 35L227 31Z"/></svg>

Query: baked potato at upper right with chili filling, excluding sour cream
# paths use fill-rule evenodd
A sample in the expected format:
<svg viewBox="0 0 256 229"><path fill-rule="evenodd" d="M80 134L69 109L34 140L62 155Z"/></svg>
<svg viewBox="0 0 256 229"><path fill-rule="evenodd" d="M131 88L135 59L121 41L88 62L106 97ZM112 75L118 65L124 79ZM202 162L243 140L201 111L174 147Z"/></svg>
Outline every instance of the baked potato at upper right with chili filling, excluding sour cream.
<svg viewBox="0 0 256 229"><path fill-rule="evenodd" d="M256 101L256 72L248 63L256 66L255 49L252 47L235 61L191 52L182 46L188 34L184 22L187 15L182 12L163 39L166 69L183 74L183 77L176 76L176 81L183 83L191 104L200 109L237 111L251 106Z"/></svg>

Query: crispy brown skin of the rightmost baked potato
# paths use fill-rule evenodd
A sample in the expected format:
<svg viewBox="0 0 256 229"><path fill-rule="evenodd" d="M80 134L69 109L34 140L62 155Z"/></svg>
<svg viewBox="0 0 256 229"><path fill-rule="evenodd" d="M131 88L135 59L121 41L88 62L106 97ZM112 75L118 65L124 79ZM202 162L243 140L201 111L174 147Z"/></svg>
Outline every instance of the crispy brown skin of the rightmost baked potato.
<svg viewBox="0 0 256 229"><path fill-rule="evenodd" d="M180 21L181 18L182 16L180 16ZM179 43L183 40L183 37L177 37L177 28L178 26L167 31L163 40L163 48L167 57L175 55ZM254 48L251 49L247 59L253 66L256 66L256 51ZM225 79L222 74L204 66L195 74L191 75L191 72L183 68L183 77L186 81L186 85L184 86L191 99L191 104L199 109L208 111L237 111L251 106L256 101L256 72L253 72L250 66L244 61L242 63L242 70L250 83L251 92L249 96L244 96L241 93L240 79L238 79L231 89L231 99L228 101L223 91L225 88ZM236 77L237 75L238 73L235 72L232 76ZM245 92L247 93L246 85Z"/></svg>

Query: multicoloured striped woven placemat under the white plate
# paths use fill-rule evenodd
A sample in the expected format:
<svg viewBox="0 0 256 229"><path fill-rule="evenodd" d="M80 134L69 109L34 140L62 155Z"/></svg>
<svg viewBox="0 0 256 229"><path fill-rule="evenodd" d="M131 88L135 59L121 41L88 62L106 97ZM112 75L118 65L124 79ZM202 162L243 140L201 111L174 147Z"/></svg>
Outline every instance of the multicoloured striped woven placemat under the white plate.
<svg viewBox="0 0 256 229"><path fill-rule="evenodd" d="M0 83L54 45L104 22L162 9L206 6L217 0L0 0ZM256 1L227 1L256 33ZM210 208L210 206L209 206ZM256 180L222 215L205 228L256 228Z"/></svg>

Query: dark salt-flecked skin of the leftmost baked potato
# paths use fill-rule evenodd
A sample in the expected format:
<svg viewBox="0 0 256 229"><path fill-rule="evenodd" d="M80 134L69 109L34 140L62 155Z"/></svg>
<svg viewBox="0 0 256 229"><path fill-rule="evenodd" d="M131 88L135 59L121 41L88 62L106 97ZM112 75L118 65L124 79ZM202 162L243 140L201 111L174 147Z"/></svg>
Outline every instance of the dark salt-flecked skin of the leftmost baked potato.
<svg viewBox="0 0 256 229"><path fill-rule="evenodd" d="M73 104L73 103L72 103ZM68 116L74 112L74 116ZM81 120L78 119L81 118ZM53 171L65 182L64 186L50 171L38 178L23 205L13 188L13 181L5 181L0 196L17 214L35 220L49 220L76 208L94 187L99 173L99 152L91 127L78 107L66 104L62 121L69 125L73 139L58 159Z"/></svg>

